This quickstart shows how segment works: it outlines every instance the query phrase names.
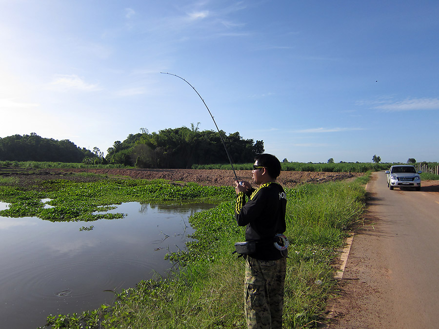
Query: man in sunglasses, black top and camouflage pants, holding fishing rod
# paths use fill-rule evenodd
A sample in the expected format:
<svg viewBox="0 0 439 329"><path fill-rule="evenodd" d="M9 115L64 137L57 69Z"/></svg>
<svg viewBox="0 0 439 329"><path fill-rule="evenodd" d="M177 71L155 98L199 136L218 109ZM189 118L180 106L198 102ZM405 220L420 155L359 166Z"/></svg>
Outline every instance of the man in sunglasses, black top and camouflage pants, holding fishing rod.
<svg viewBox="0 0 439 329"><path fill-rule="evenodd" d="M236 182L235 217L246 226L245 240L253 244L245 257L244 311L249 329L281 329L286 273L286 195L276 183L278 158L261 154L255 158L253 181ZM249 200L246 202L246 196ZM256 247L256 248L254 248Z"/></svg>

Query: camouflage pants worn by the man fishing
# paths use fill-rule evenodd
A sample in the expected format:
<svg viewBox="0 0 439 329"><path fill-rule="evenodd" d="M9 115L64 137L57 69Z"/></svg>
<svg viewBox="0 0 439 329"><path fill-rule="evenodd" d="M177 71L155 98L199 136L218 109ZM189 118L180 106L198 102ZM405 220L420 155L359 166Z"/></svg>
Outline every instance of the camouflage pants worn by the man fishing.
<svg viewBox="0 0 439 329"><path fill-rule="evenodd" d="M248 329L282 329L286 257L245 261L244 311Z"/></svg>

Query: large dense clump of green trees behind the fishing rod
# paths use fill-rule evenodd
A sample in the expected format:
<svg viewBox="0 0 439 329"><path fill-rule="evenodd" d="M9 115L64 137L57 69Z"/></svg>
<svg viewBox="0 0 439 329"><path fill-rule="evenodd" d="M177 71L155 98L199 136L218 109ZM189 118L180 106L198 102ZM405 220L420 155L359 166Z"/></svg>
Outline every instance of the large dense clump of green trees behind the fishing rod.
<svg viewBox="0 0 439 329"><path fill-rule="evenodd" d="M200 131L198 124L158 133L144 128L140 131L123 142L115 141L107 150L106 160L138 168L191 168L193 164L229 162L218 132ZM253 162L255 155L264 152L262 140L243 139L239 132L227 135L221 130L220 134L234 163Z"/></svg>

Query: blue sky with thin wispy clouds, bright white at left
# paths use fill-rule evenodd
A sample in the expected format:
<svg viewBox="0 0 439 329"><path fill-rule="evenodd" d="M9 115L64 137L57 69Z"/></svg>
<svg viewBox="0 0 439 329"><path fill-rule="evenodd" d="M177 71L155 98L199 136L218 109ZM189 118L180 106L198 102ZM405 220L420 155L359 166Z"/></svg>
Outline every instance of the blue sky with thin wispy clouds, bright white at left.
<svg viewBox="0 0 439 329"><path fill-rule="evenodd" d="M0 137L146 128L289 161L438 161L438 1L0 0Z"/></svg>

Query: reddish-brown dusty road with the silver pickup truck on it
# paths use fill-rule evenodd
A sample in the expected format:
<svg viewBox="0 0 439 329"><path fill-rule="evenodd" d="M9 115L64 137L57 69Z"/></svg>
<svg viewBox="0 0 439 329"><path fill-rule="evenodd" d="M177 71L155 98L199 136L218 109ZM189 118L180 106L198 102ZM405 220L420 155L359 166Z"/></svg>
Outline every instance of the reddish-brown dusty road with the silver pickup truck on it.
<svg viewBox="0 0 439 329"><path fill-rule="evenodd" d="M390 191L373 174L368 225L354 235L331 329L439 328L439 182Z"/></svg>

